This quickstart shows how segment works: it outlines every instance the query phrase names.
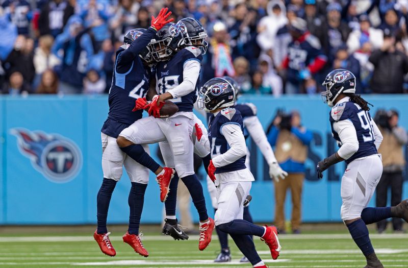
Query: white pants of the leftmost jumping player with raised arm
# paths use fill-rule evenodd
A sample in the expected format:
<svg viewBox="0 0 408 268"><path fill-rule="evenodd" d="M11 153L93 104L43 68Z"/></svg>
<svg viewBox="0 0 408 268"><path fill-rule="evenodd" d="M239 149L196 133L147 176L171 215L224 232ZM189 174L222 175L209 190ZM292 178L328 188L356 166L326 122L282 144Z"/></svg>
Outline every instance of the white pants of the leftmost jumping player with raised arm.
<svg viewBox="0 0 408 268"><path fill-rule="evenodd" d="M120 150L116 138L100 133L102 139L102 170L104 178L119 181L122 177L122 168L126 169L131 182L147 184L149 170ZM147 144L142 145L146 153L150 153Z"/></svg>

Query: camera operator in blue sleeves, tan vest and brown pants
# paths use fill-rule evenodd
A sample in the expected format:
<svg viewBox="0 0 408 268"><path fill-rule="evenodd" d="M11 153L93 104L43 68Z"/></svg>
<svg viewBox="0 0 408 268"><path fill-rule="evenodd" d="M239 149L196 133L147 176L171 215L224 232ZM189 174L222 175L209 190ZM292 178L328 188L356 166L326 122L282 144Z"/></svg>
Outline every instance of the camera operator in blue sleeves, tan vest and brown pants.
<svg viewBox="0 0 408 268"><path fill-rule="evenodd" d="M284 205L286 192L291 189L292 194L292 232L300 233L301 221L301 193L304 179L304 162L308 157L308 145L313 138L300 124L300 114L297 111L285 113L278 110L268 129L268 141L272 147L279 165L289 175L285 180L275 184L275 226L279 232L285 231Z"/></svg>

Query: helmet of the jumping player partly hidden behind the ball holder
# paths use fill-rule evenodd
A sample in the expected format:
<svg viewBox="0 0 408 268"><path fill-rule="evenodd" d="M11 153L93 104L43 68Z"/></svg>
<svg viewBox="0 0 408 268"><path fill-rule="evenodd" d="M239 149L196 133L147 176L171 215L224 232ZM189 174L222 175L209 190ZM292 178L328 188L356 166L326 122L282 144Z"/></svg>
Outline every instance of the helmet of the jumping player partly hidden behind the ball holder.
<svg viewBox="0 0 408 268"><path fill-rule="evenodd" d="M201 22L195 18L184 18L177 22L177 26L182 34L182 45L196 46L201 49L201 54L206 54L208 48L207 31L202 27Z"/></svg>

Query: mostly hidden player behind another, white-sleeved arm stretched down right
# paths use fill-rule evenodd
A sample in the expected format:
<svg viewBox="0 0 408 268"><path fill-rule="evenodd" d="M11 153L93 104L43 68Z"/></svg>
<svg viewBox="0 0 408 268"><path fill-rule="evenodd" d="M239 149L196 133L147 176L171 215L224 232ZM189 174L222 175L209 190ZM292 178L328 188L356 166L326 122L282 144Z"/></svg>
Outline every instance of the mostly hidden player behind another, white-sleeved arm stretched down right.
<svg viewBox="0 0 408 268"><path fill-rule="evenodd" d="M247 139L249 136L253 139L253 141L257 144L258 148L261 150L262 155L265 157L268 165L269 165L269 176L271 179L279 180L279 179L285 179L286 176L288 176L288 173L286 173L277 163L277 160L275 158L275 155L273 154L273 150L271 148L271 145L269 144L265 131L262 128L261 122L258 119L257 116L257 107L253 105L252 103L243 103L243 104L238 104L237 99L238 99L238 94L240 93L239 89L240 86L238 83L231 77L225 76L223 77L226 81L228 81L230 84L233 85L233 87L236 89L236 99L234 100L234 106L233 108L238 110L241 113L242 120L244 123L244 137ZM250 170L250 164L249 164L249 150L248 148L246 149L246 159L245 159L245 166ZM211 200L213 201L213 207L214 209L217 209L216 205L216 193L217 190L214 186L214 183L212 183L211 179L207 177L207 186L208 190L210 192ZM249 207L245 206L244 207L244 220L252 223L252 217L251 214L249 213ZM228 237L227 234L219 230L219 228L215 228L217 231L218 239L221 244L221 252L218 254L217 258L214 260L215 262L227 262L231 260L231 252L230 248L228 247ZM241 262L248 262L248 259L244 256L241 260Z"/></svg>

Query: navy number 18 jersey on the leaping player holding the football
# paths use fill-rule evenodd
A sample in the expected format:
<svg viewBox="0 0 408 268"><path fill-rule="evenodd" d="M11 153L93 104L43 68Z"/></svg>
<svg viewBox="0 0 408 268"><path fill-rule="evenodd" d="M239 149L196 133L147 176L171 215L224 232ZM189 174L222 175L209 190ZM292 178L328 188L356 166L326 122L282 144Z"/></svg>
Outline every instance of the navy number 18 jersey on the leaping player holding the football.
<svg viewBox="0 0 408 268"><path fill-rule="evenodd" d="M159 62L156 66L156 83L159 94L165 93L183 82L183 68L187 61L196 60L201 62L201 50L195 46L183 48L177 52L170 60ZM197 101L198 84L195 84L194 91L180 98L175 98L172 101L179 107L180 112L192 112L193 105Z"/></svg>

